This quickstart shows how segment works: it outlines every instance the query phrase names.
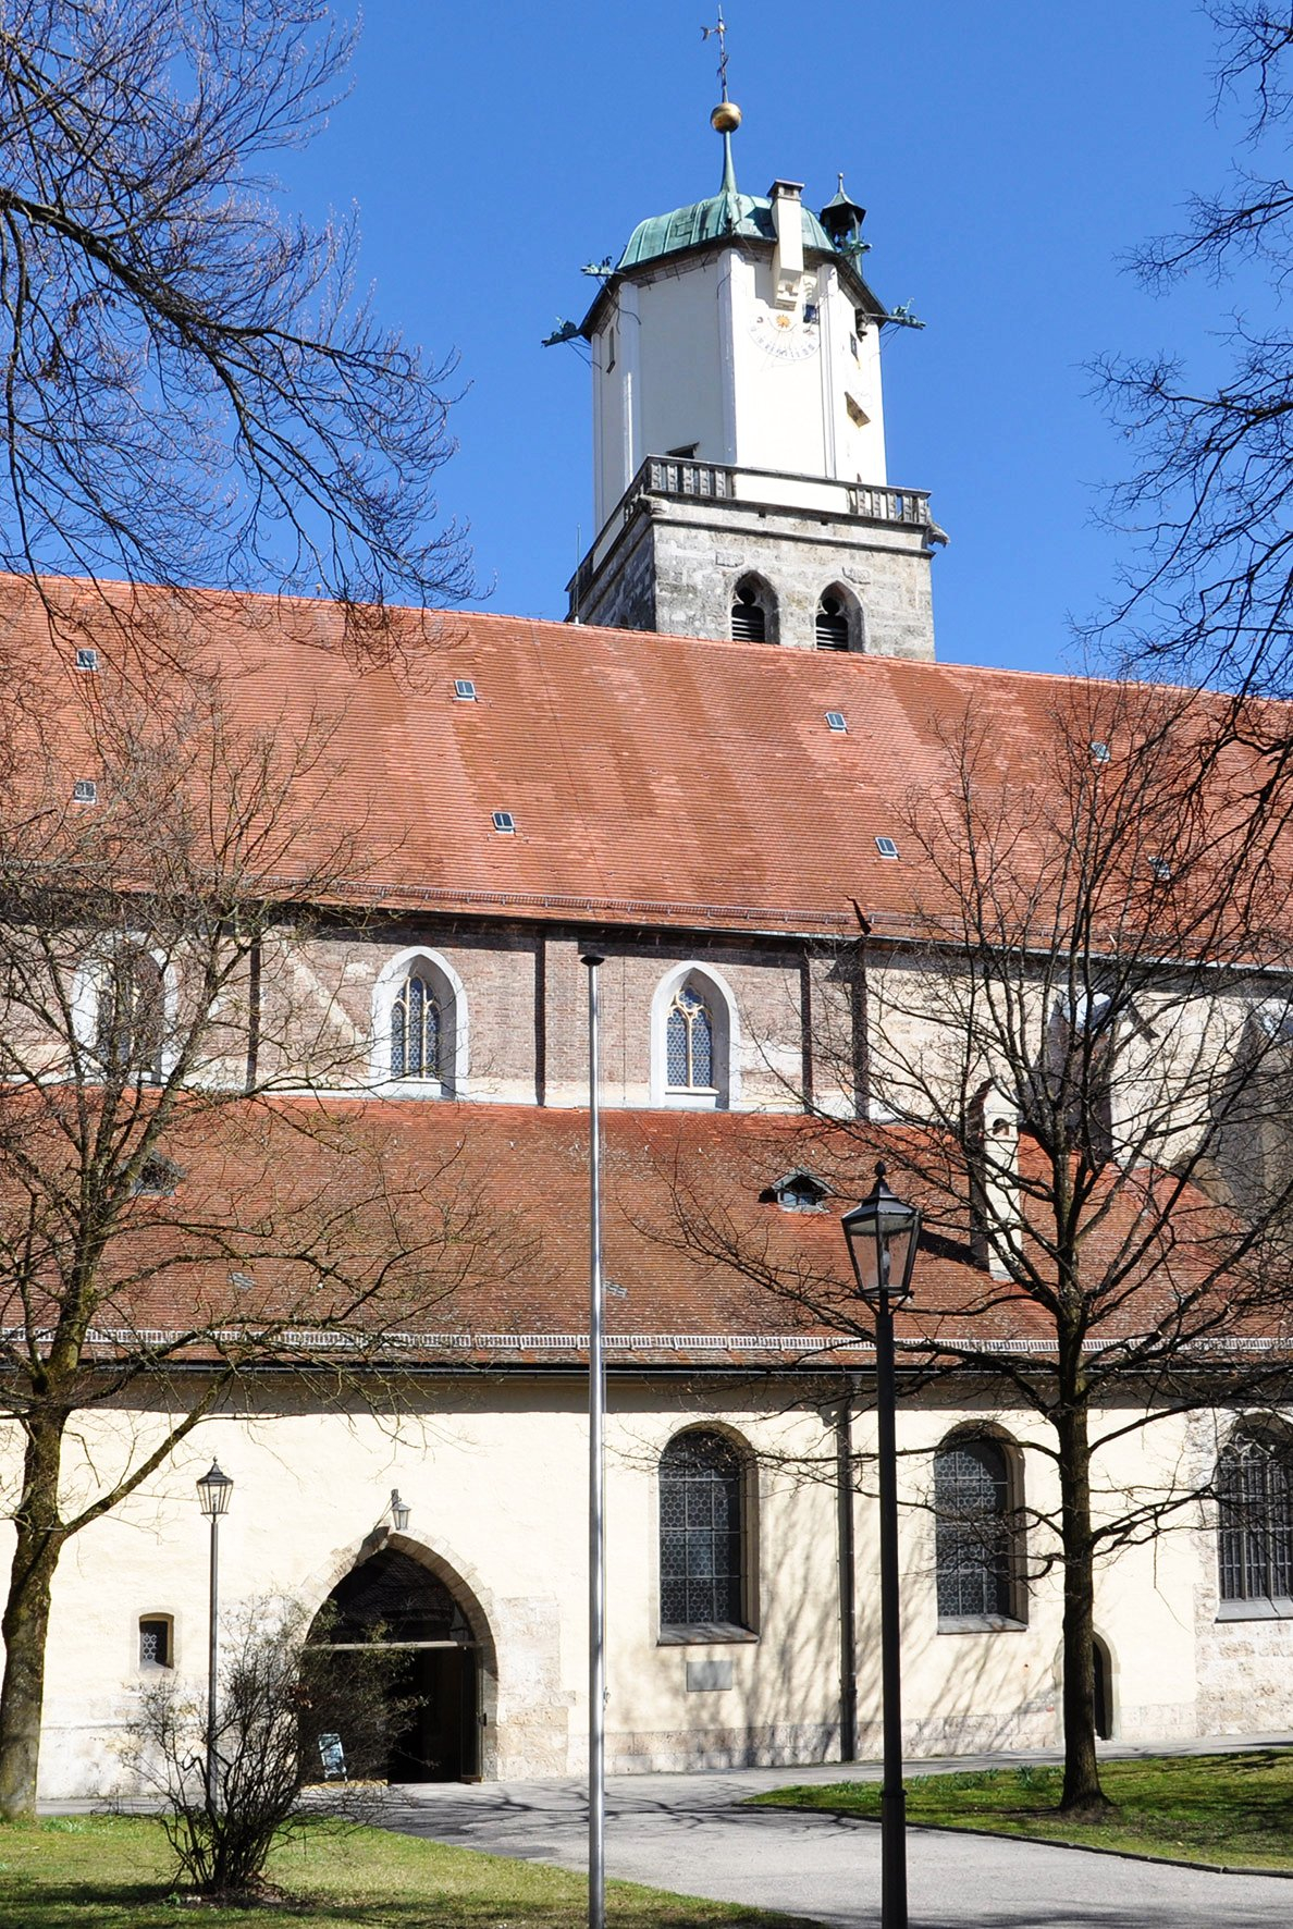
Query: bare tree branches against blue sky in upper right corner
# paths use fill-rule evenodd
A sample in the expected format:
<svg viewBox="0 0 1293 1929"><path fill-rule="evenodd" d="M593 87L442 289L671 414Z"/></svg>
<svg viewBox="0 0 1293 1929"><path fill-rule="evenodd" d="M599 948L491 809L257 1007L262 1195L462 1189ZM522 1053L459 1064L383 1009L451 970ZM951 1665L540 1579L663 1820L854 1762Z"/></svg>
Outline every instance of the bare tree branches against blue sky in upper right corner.
<svg viewBox="0 0 1293 1929"><path fill-rule="evenodd" d="M1249 311L1229 320L1229 370L1216 388L1169 355L1098 365L1139 451L1112 492L1112 519L1135 532L1137 552L1104 635L1154 675L1289 696L1293 340L1281 299L1293 270L1293 23L1258 0L1214 0L1208 12L1222 44L1220 98L1249 106L1247 156L1224 189L1195 195L1183 230L1142 247L1133 268L1152 287L1189 274L1222 284L1243 268Z"/></svg>

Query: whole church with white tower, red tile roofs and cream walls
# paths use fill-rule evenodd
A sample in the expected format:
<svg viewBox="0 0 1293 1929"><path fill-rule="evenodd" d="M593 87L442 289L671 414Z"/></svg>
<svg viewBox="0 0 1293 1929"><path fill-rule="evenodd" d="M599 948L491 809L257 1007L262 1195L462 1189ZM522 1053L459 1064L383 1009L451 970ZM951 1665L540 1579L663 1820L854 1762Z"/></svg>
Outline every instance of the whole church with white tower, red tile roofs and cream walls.
<svg viewBox="0 0 1293 1929"><path fill-rule="evenodd" d="M270 1593L311 1613L334 1599L407 1649L425 1705L394 1780L585 1765L591 947L606 959L608 1767L878 1752L870 1356L672 1244L670 1173L687 1161L776 1250L843 1269L853 1200L803 1167L797 1132L805 1094L828 1117L874 1098L865 1030L905 968L886 945L903 789L971 708L1027 764L1061 679L936 662L946 538L928 494L888 480L880 345L903 316L863 278L863 210L843 183L820 214L793 181L739 193L731 129L724 162L716 195L635 230L581 324L598 534L565 623L444 617L405 677L318 648L328 611L266 604L239 644L212 600L212 638L243 650L239 700L286 735L334 718L328 754L378 853L363 924L322 916L257 986L268 1009L274 970L291 976L326 1076L295 1073L268 1020L261 1053L284 1053L289 1103L378 1107L409 1173L461 1150L533 1221L535 1263L506 1294L450 1300L388 1393L249 1372L68 1543L46 1798L116 1784L114 1736L158 1671L205 1680L193 1483L212 1458L235 1483L232 1615ZM841 968L863 918L868 986ZM95 995L87 978L91 1032ZM820 1042L843 1034L841 1059ZM953 1294L977 1263L930 1250L915 1291ZM145 1451L179 1383L154 1410L131 1397L87 1416L71 1481ZM1129 1412L1142 1399L1129 1389ZM1235 1426L1164 1418L1108 1478L1158 1466L1168 1485L1185 1466L1206 1483ZM1061 1576L1011 1543L1025 1505L1054 1507L1038 1424L942 1383L903 1400L899 1443L911 1753L1056 1744ZM1000 1512L990 1545L959 1545L940 1516L957 1481ZM1293 1485L1270 1507L1260 1547L1222 1545L1200 1505L1100 1568L1104 1734L1293 1726Z"/></svg>

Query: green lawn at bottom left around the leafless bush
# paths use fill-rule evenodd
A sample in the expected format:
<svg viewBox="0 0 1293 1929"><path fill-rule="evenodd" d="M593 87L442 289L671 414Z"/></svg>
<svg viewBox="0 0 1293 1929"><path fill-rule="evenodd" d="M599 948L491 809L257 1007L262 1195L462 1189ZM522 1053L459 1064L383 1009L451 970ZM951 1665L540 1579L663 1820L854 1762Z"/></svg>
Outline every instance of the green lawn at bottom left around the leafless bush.
<svg viewBox="0 0 1293 1929"><path fill-rule="evenodd" d="M477 1856L384 1829L315 1823L268 1877L291 1902L195 1908L172 1892L154 1821L75 1815L0 1823L0 1929L577 1929L587 1883L535 1861ZM787 1917L608 1883L612 1929L772 1929Z"/></svg>

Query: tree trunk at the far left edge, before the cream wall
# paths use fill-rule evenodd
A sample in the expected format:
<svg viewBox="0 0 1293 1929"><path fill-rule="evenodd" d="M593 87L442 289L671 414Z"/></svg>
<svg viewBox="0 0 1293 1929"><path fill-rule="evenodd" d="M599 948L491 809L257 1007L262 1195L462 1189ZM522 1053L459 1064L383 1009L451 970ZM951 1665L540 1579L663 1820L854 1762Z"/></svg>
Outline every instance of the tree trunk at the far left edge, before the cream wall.
<svg viewBox="0 0 1293 1929"><path fill-rule="evenodd" d="M37 1767L44 1713L44 1645L50 1582L64 1545L58 1520L62 1420L42 1420L27 1435L17 1547L4 1603L4 1686L0 1686L0 1817L37 1811Z"/></svg>

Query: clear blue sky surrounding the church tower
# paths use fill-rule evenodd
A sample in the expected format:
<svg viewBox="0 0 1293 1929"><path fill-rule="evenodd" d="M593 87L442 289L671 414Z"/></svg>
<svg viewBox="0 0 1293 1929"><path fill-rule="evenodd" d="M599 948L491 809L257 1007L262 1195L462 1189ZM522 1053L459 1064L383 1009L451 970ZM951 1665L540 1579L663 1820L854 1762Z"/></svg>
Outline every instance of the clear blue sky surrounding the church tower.
<svg viewBox="0 0 1293 1929"><path fill-rule="evenodd" d="M484 608L565 613L591 540L589 370L542 349L583 262L712 193L712 0L444 8L372 0L353 89L282 174L307 212L359 203L380 316L459 355L442 505L471 523ZM1142 291L1119 257L1216 185L1214 35L1189 0L729 0L737 177L845 170L868 276L922 334L886 334L890 476L932 490L946 660L1063 667L1110 590L1094 527L1131 453L1085 363L1171 347L1202 380L1235 287Z"/></svg>

